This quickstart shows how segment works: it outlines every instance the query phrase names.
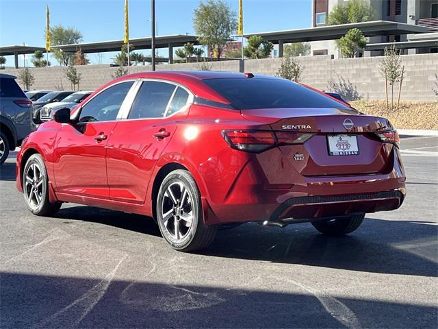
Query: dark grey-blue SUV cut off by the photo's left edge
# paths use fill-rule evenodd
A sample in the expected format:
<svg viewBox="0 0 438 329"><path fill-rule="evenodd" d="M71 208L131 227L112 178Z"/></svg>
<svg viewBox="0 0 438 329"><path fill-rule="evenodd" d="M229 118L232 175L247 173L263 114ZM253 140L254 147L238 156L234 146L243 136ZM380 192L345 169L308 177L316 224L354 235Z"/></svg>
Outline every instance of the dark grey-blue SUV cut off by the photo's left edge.
<svg viewBox="0 0 438 329"><path fill-rule="evenodd" d="M32 102L15 79L14 75L0 73L0 164L35 129Z"/></svg>

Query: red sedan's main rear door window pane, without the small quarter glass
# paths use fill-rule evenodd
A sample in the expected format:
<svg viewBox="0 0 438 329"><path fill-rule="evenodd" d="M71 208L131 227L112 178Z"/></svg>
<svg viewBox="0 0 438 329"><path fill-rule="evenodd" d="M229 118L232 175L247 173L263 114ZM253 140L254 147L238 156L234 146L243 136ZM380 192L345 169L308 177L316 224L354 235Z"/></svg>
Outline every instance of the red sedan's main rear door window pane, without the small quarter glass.
<svg viewBox="0 0 438 329"><path fill-rule="evenodd" d="M166 82L143 82L132 104L128 119L162 118L175 85Z"/></svg>

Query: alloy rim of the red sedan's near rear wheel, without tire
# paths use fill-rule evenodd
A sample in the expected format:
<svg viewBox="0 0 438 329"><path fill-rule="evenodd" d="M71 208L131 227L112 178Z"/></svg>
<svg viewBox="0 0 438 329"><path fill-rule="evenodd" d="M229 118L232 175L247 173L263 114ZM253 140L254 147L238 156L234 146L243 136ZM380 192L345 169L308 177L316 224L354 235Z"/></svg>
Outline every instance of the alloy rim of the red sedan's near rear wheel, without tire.
<svg viewBox="0 0 438 329"><path fill-rule="evenodd" d="M173 239L181 240L190 232L193 221L192 195L183 182L168 186L162 200L162 221Z"/></svg>

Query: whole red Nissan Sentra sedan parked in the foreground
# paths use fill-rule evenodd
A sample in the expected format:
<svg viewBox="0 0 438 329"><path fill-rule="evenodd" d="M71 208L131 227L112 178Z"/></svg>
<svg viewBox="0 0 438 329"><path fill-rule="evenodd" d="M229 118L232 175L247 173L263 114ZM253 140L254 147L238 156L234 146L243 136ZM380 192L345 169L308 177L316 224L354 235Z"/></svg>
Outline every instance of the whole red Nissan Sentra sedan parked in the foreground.
<svg viewBox="0 0 438 329"><path fill-rule="evenodd" d="M225 223L347 234L405 195L387 119L276 77L131 74L53 119L17 157L29 210L75 202L152 216L181 251L207 247Z"/></svg>

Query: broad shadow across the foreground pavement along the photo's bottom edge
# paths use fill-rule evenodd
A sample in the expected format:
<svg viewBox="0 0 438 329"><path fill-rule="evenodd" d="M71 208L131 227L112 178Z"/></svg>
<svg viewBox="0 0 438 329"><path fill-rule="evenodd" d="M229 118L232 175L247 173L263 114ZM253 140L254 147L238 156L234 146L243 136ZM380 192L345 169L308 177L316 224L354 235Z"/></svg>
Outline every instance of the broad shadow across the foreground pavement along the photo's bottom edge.
<svg viewBox="0 0 438 329"><path fill-rule="evenodd" d="M129 266L126 264L125 266ZM385 300L1 273L2 328L435 328L436 308Z"/></svg>

